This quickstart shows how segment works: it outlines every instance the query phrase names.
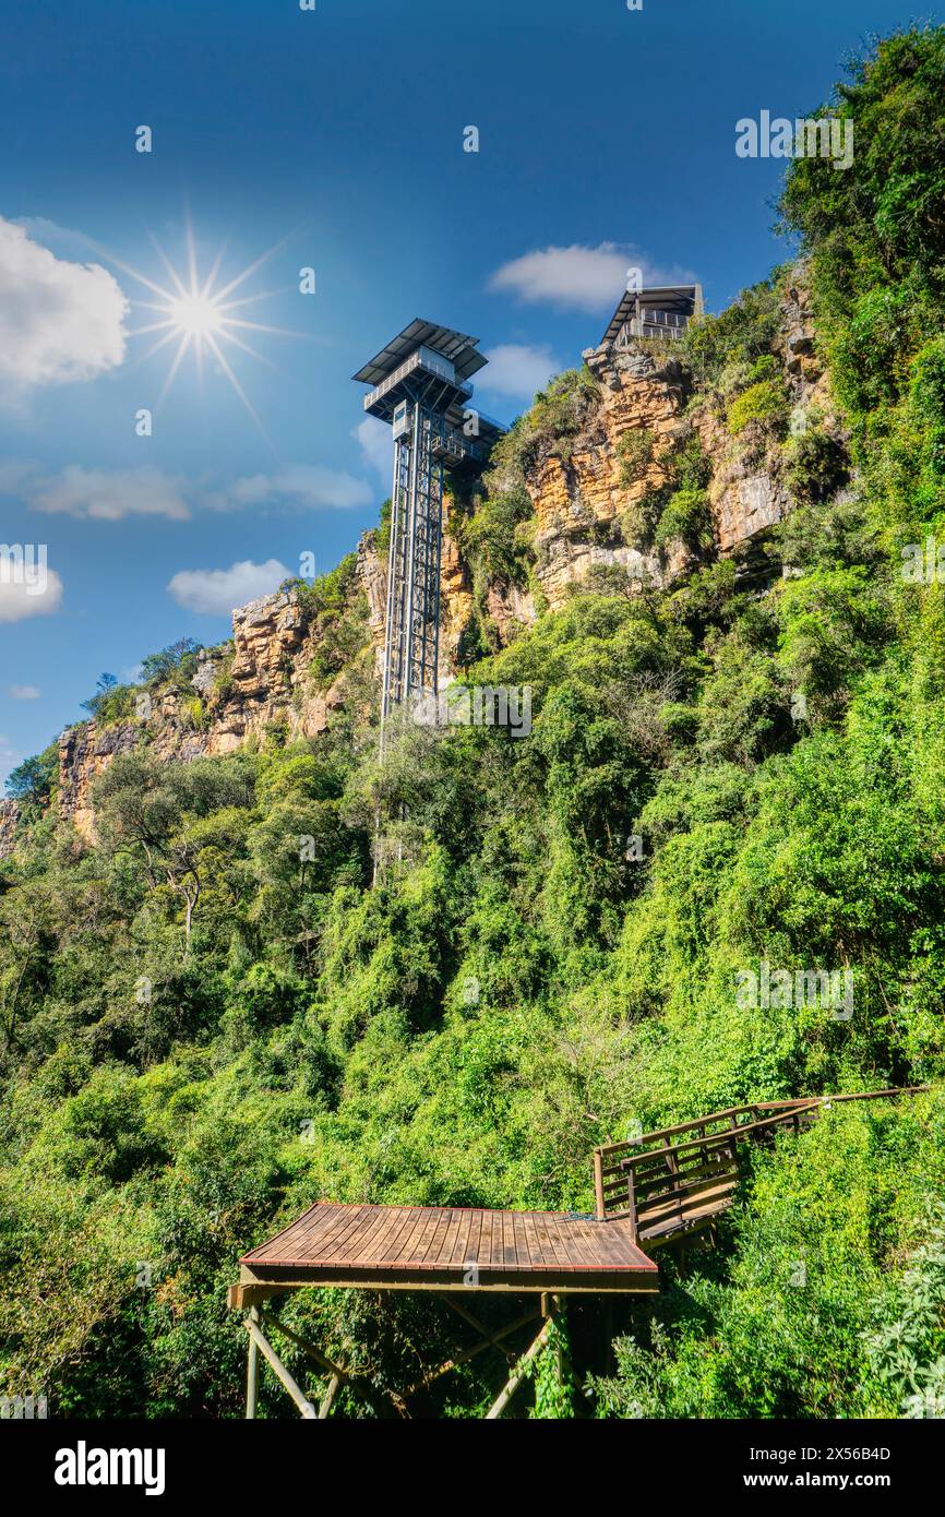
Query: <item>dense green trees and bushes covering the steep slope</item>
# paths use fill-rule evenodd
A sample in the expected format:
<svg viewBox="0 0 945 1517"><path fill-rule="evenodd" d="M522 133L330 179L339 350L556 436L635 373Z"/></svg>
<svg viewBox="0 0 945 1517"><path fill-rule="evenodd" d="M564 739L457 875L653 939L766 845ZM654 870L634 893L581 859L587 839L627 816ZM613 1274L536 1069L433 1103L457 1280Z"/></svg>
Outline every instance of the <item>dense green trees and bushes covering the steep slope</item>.
<svg viewBox="0 0 945 1517"><path fill-rule="evenodd" d="M681 446L634 529L686 543L684 575L601 570L507 646L478 596L461 678L531 686L528 740L408 724L381 760L343 564L303 592L347 681L323 736L120 754L96 843L58 815L55 749L14 775L5 1394L238 1417L226 1286L319 1197L587 1211L592 1147L633 1124L922 1083L752 1151L716 1245L661 1256L610 1356L575 1312L575 1400L538 1384L532 1414L942 1415L945 30L877 42L824 114L854 123L854 161L793 161L778 214L842 426L790 425L787 264L681 344L689 407L790 481L761 566L713 551ZM455 502L479 590L528 581L529 451L567 448L593 388L554 381ZM155 657L144 687L185 689L193 658ZM127 699L100 690L96 719ZM751 1004L763 963L849 972L852 1013ZM446 1317L323 1291L287 1320L382 1391L443 1358ZM504 1376L479 1359L437 1409L478 1415ZM272 1385L262 1409L291 1415Z"/></svg>

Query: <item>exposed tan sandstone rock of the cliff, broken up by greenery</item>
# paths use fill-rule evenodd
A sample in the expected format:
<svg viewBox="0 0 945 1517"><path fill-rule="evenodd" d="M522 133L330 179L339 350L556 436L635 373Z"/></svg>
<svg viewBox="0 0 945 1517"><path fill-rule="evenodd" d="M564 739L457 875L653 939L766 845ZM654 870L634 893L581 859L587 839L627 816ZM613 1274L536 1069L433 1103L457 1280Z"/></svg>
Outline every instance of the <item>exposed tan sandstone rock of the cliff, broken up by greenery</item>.
<svg viewBox="0 0 945 1517"><path fill-rule="evenodd" d="M802 265L786 288L781 335L775 343L795 411L819 407L830 414L827 379L815 355L810 296ZM537 619L538 607L560 607L573 586L596 564L622 566L633 578L672 583L690 561L678 545L669 554L634 543L628 522L648 492L667 482L666 458L686 426L695 426L711 464L708 498L716 551L728 554L749 545L790 510L780 476L777 449L734 440L710 405L690 410L681 366L670 355L625 349L592 349L584 360L599 385L582 431L564 446L552 441L526 469L525 484L534 507L534 566L531 587L490 584L484 592L496 637L507 645ZM646 429L649 460L628 479L622 467L625 440ZM444 501L441 551L440 675L449 678L461 663L463 637L475 619L470 566L451 534L449 498ZM358 545L356 593L364 596L366 642L375 669L382 669L387 569L376 549L376 532ZM234 611L232 648L200 655L193 690L165 692L143 699L133 721L108 727L82 722L62 734L59 749L59 810L77 830L94 837L91 786L117 754L149 743L159 758L191 760L232 752L247 740L261 740L272 724L287 737L314 737L325 731L331 711L343 704L344 680L329 689L311 677L320 633L311 625L294 590L279 592ZM17 822L12 802L0 806L0 857L12 846Z"/></svg>

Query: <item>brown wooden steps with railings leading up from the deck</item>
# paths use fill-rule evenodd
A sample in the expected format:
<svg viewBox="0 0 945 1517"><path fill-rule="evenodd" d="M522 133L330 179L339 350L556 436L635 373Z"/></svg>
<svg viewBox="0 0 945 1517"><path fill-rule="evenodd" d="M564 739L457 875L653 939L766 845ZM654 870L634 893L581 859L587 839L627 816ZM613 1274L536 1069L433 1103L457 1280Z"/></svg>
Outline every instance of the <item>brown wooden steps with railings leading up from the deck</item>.
<svg viewBox="0 0 945 1517"><path fill-rule="evenodd" d="M711 1223L734 1198L737 1145L768 1138L781 1127L799 1132L821 1109L839 1101L913 1095L927 1086L865 1091L852 1095L799 1097L730 1106L690 1123L595 1148L596 1215L625 1218L634 1238L657 1245L677 1233Z"/></svg>

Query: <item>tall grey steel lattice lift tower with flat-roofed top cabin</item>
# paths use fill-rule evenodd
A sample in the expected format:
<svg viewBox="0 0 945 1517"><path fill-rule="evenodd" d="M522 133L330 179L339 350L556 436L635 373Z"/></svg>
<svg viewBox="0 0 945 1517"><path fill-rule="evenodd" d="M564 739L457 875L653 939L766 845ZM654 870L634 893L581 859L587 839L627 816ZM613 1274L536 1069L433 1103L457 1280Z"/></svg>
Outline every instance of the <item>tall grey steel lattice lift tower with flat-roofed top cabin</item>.
<svg viewBox="0 0 945 1517"><path fill-rule="evenodd" d="M469 405L469 376L485 364L478 341L417 319L355 375L394 441L382 733L394 707L437 693L443 472L478 473L502 432Z"/></svg>

